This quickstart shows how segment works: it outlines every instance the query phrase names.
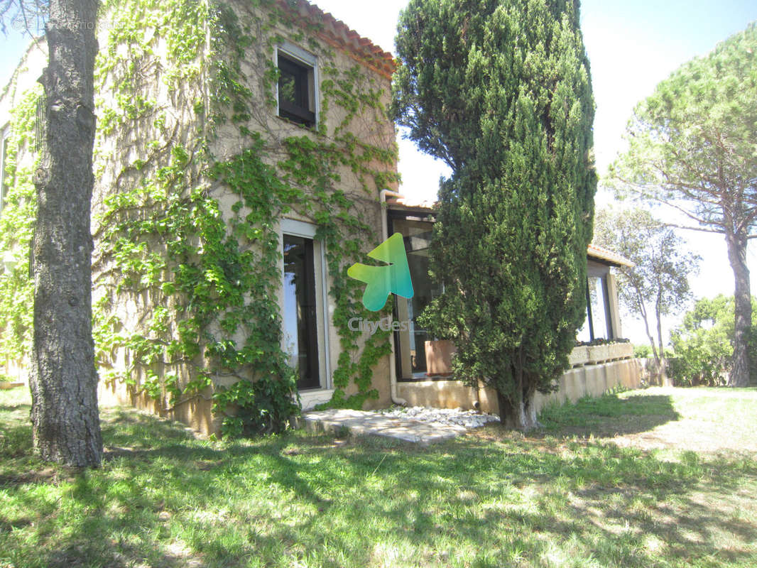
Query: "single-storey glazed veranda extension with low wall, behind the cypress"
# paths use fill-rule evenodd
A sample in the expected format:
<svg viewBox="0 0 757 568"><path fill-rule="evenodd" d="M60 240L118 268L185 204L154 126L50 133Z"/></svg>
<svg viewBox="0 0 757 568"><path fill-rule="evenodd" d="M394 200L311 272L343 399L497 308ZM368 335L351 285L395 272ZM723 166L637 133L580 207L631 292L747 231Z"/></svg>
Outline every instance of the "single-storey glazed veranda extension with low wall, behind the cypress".
<svg viewBox="0 0 757 568"><path fill-rule="evenodd" d="M477 408L497 414L497 395L492 389L473 389L451 376L453 345L434 341L416 324L416 316L438 292L426 276L433 219L433 204L414 204L402 197L388 201L389 233L403 235L415 288L413 298L396 299L394 317L408 325L394 332L392 380L397 380L397 395L403 404ZM548 401L577 401L584 395L598 396L616 387L634 389L640 385L633 346L622 339L618 290L612 273L612 267L633 264L612 251L589 245L587 265L587 319L578 331L580 345L569 357L572 368L559 378L559 390L550 395L537 393L537 410Z"/></svg>

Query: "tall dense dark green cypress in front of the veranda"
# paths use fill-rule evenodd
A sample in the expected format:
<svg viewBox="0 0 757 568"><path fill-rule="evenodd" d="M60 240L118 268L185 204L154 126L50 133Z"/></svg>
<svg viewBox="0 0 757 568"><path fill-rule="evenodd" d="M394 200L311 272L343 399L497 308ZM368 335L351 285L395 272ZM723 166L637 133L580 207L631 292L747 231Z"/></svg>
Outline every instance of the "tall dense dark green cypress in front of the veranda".
<svg viewBox="0 0 757 568"><path fill-rule="evenodd" d="M457 376L492 385L509 426L567 367L585 316L593 98L578 2L412 0L394 115L453 170L440 190L426 314Z"/></svg>

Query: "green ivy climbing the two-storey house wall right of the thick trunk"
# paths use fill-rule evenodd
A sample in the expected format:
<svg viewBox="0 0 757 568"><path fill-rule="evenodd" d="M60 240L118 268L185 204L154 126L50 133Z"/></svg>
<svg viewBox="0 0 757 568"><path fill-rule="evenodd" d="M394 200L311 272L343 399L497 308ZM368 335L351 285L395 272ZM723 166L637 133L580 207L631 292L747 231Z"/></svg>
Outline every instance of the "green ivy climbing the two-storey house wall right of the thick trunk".
<svg viewBox="0 0 757 568"><path fill-rule="evenodd" d="M366 211L375 215L376 189L396 181L394 146L353 132L366 117L387 120L384 93L359 65L338 68L335 53L313 39L316 24L276 2L252 4L263 9L242 22L224 4L105 2L111 31L96 73L101 95L112 92L98 99L95 149L101 376L162 407L214 385L225 435L281 429L297 411L277 301L284 215L316 223L326 253L340 339L330 404L376 398L372 369L390 351L388 332L366 338L347 326L369 317L347 267L378 243ZM319 53L321 115L338 111L338 123L283 137L291 128L271 126L282 29ZM213 149L229 126L240 151L218 159ZM345 170L362 186L357 201L341 189ZM350 383L357 393L347 396Z"/></svg>

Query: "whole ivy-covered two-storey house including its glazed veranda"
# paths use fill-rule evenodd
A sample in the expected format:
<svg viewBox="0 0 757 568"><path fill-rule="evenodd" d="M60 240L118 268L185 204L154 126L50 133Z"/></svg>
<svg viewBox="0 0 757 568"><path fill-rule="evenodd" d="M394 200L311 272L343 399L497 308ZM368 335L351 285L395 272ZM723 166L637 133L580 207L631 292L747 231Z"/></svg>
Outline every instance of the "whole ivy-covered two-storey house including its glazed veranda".
<svg viewBox="0 0 757 568"><path fill-rule="evenodd" d="M306 409L493 409L486 391L445 376L449 347L414 320L434 293L424 264L433 209L397 198L389 53L304 0L186 0L172 11L117 0L98 41L92 285L102 400L206 433L273 423L293 389ZM30 346L44 62L40 39L0 95L0 365L17 373ZM407 329L356 328L372 314L347 267L393 233L416 294L380 317ZM582 339L619 337L609 267L624 261L598 248L589 258ZM637 382L630 345L601 359L589 349L568 373L580 389L563 377L567 395Z"/></svg>

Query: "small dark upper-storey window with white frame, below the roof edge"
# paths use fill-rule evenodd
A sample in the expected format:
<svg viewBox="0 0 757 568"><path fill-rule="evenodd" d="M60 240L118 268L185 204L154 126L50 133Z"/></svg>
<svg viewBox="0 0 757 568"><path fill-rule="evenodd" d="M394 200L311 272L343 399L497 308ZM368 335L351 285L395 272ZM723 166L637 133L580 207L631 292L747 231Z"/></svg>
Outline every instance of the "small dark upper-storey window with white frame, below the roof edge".
<svg viewBox="0 0 757 568"><path fill-rule="evenodd" d="M279 117L316 126L316 59L293 45L276 51Z"/></svg>

